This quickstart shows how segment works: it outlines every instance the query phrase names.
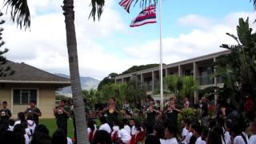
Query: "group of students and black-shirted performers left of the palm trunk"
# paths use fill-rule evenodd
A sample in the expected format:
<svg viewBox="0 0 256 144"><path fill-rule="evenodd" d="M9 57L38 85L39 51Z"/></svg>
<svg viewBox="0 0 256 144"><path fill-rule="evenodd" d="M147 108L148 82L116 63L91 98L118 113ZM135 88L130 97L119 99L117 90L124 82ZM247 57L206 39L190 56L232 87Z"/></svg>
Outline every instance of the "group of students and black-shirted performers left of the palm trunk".
<svg viewBox="0 0 256 144"><path fill-rule="evenodd" d="M65 101L59 102L54 108L58 129L50 136L44 125L38 124L41 111L36 102L31 101L29 108L18 113L16 121L10 119L12 114L7 108L7 102L2 102L0 110L0 143L1 144L72 144L67 137L67 118L70 110L66 109Z"/></svg>

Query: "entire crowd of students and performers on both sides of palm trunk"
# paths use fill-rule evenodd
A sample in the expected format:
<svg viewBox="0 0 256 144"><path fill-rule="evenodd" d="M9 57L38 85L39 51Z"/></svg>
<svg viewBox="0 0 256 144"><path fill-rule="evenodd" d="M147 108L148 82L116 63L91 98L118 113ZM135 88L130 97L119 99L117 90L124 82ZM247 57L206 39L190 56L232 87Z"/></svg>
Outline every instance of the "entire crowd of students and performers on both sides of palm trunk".
<svg viewBox="0 0 256 144"><path fill-rule="evenodd" d="M218 104L216 116L210 118L208 103L205 97L194 105L200 110L199 119L183 118L178 122L181 109L190 108L190 102L185 99L183 106L177 106L176 98L171 97L166 102L164 110L160 110L153 98L147 98L142 103L141 113L145 120L138 121L130 111L129 102L122 106L125 113L110 101L102 110L98 110L99 123L87 117L87 134L92 144L256 144L255 119L247 122L238 110ZM53 113L57 119L58 130L51 136L46 126L38 124L42 114L36 107L36 102L30 102L30 107L18 113L16 121L10 119L12 114L7 109L7 102L2 102L0 110L0 143L8 144L71 144L67 137L67 119L72 114L65 101L60 101ZM122 119L120 116L122 115ZM87 115L88 116L88 115ZM251 117L252 118L252 117Z"/></svg>

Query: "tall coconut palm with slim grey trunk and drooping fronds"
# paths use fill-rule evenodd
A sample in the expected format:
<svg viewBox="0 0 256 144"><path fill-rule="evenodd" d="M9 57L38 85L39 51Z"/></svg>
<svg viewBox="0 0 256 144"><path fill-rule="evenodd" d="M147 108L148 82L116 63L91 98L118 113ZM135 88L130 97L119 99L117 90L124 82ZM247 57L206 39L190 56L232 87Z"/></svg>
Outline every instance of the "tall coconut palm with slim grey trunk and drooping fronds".
<svg viewBox="0 0 256 144"><path fill-rule="evenodd" d="M104 0L91 0L92 10L90 17L95 19L95 14L100 18L104 6ZM11 19L20 26L30 27L30 10L27 0L6 0L5 6L10 7ZM64 0L62 10L66 24L66 44L69 55L70 82L74 98L74 119L76 123L76 136L78 143L87 143L86 135L86 114L85 106L82 101L82 88L78 67L77 40L74 27L74 0Z"/></svg>

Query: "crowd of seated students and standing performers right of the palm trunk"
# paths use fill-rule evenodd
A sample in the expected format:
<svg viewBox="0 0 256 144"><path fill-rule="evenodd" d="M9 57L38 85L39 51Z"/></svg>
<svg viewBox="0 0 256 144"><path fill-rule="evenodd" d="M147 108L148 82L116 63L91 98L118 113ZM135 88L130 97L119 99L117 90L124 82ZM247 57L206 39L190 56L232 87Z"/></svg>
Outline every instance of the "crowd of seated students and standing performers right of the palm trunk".
<svg viewBox="0 0 256 144"><path fill-rule="evenodd" d="M122 118L118 121L117 106L114 98L100 114L102 125L98 127L93 120L88 122L90 143L134 144L138 141L146 144L256 144L256 122L246 122L237 110L227 110L225 105L218 105L216 117L210 118L205 97L195 105L200 109L199 119L182 119L182 128L178 126L176 98L166 102L164 110L155 107L154 99L148 98L142 106L146 122L136 122L134 118ZM125 103L126 108L129 105ZM182 108L189 108L187 99ZM138 137L140 137L138 139ZM141 138L142 137L142 138Z"/></svg>

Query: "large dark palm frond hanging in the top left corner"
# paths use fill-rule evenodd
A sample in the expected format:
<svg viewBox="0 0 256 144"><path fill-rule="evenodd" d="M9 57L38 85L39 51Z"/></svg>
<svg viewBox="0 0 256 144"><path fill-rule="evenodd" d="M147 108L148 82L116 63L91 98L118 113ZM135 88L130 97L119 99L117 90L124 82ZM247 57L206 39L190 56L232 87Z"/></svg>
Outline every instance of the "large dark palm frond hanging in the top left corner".
<svg viewBox="0 0 256 144"><path fill-rule="evenodd" d="M5 0L4 6L10 7L10 17L20 29L30 27L30 9L26 0Z"/></svg>

